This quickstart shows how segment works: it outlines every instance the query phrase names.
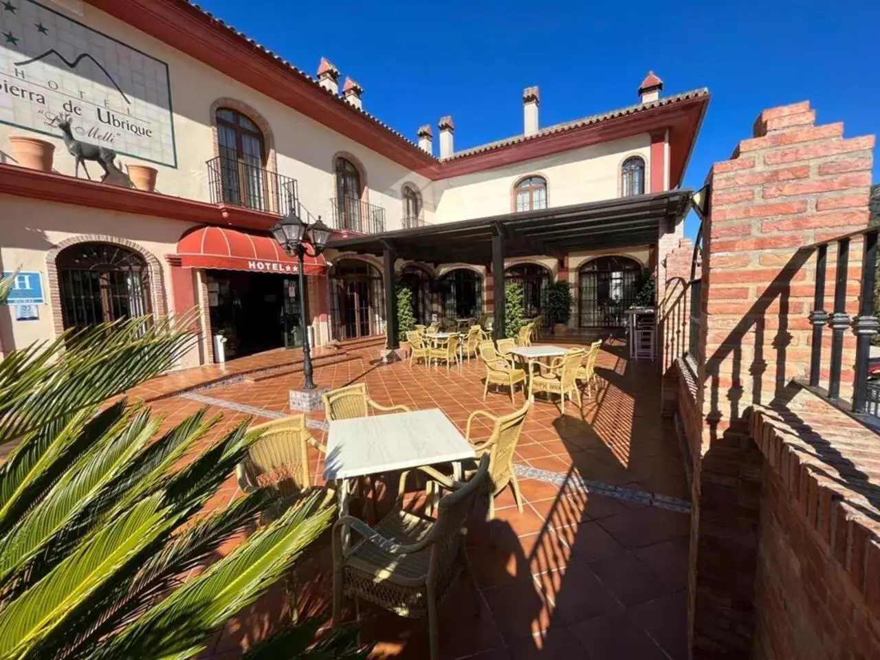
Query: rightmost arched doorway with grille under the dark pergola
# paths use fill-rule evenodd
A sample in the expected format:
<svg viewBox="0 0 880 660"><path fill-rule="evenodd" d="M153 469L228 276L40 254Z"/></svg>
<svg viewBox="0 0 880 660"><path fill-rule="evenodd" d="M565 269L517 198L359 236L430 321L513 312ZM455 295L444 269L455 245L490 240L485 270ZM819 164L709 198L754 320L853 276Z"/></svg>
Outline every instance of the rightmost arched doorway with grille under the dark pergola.
<svg viewBox="0 0 880 660"><path fill-rule="evenodd" d="M578 325L623 327L642 265L628 257L599 257L578 269Z"/></svg>

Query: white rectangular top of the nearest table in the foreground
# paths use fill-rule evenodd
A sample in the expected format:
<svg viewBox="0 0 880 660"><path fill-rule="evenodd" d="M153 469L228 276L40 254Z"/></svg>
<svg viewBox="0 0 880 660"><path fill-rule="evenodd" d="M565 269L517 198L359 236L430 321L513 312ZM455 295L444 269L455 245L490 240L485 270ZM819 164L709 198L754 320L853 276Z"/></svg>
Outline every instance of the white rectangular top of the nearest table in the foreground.
<svg viewBox="0 0 880 660"><path fill-rule="evenodd" d="M439 408L330 422L326 480L474 458L473 447Z"/></svg>

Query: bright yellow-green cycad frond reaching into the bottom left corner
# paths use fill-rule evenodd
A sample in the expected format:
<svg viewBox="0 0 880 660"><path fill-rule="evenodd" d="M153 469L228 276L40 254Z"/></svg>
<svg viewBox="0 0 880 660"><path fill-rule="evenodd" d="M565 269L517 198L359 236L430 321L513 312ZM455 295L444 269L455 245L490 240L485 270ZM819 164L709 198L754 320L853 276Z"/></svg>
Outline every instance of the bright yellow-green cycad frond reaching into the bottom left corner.
<svg viewBox="0 0 880 660"><path fill-rule="evenodd" d="M138 502L78 547L39 583L0 610L0 657L24 656L117 571L124 571L171 521L157 496Z"/></svg>

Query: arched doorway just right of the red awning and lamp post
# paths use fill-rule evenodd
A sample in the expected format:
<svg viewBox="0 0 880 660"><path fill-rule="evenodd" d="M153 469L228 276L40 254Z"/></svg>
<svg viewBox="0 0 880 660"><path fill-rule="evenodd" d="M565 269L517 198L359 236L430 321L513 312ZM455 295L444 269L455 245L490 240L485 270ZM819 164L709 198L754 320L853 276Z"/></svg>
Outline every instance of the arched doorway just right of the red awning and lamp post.
<svg viewBox="0 0 880 660"><path fill-rule="evenodd" d="M382 274L367 261L337 261L330 271L330 304L336 339L381 334L385 321Z"/></svg>

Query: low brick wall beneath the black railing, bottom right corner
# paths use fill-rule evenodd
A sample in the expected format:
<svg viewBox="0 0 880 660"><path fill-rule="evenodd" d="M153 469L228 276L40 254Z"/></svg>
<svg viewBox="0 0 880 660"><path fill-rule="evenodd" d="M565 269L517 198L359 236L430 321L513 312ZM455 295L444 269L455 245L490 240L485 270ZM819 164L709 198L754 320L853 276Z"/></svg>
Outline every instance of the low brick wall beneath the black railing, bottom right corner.
<svg viewBox="0 0 880 660"><path fill-rule="evenodd" d="M765 458L752 657L880 657L876 434L804 390L750 426Z"/></svg>

